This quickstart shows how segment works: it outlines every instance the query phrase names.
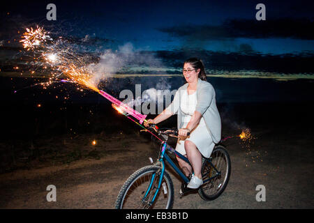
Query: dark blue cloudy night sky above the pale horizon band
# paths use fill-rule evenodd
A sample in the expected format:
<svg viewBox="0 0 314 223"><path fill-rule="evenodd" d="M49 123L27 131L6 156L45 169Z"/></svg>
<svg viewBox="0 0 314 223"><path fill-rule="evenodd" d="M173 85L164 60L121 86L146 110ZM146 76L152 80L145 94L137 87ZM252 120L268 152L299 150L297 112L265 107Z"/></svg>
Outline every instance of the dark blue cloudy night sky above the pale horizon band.
<svg viewBox="0 0 314 223"><path fill-rule="evenodd" d="M57 21L46 20L47 3ZM255 19L257 3L266 21ZM88 38L91 52L131 45L169 70L199 56L212 70L312 73L313 9L313 1L17 1L1 7L0 40L12 46L17 31L39 24Z"/></svg>

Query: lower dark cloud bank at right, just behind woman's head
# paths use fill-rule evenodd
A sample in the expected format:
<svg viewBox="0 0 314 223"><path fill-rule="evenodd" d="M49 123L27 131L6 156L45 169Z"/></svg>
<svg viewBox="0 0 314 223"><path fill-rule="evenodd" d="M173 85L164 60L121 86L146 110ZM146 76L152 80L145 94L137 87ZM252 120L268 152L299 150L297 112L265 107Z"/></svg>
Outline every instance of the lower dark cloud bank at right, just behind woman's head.
<svg viewBox="0 0 314 223"><path fill-rule="evenodd" d="M314 52L299 54L260 54L253 52L250 45L240 45L239 52L214 52L209 50L189 49L157 51L156 56L168 68L177 72L189 57L198 57L209 70L260 70L267 72L313 72Z"/></svg>

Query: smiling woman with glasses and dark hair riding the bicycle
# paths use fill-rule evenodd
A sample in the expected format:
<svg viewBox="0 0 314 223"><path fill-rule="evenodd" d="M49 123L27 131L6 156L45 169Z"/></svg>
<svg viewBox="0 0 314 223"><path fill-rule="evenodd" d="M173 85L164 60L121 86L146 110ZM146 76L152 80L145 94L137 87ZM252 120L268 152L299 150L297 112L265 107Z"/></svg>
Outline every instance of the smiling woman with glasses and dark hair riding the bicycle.
<svg viewBox="0 0 314 223"><path fill-rule="evenodd" d="M183 75L187 83L178 89L172 103L154 120L149 119L144 125L157 124L178 114L180 139L176 151L188 157L192 167L179 157L177 159L186 176L194 172L187 187L196 189L203 183L202 155L210 157L215 144L220 141L221 121L216 107L216 93L207 82L202 61L197 58L185 61Z"/></svg>

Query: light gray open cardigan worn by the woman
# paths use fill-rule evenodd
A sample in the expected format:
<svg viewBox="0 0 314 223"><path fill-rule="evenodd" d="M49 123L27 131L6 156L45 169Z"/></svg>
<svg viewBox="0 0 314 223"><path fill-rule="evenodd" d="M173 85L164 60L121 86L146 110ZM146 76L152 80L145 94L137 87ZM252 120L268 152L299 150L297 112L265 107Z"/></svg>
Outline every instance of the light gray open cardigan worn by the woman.
<svg viewBox="0 0 314 223"><path fill-rule="evenodd" d="M165 109L166 112L172 112L172 114L178 114L178 129L181 128L184 123L181 122L181 95L188 89L188 83L181 86L176 94L174 100ZM216 106L216 93L214 87L209 83L198 79L197 81L197 105L195 111L200 112L204 118L207 129L211 133L211 138L215 144L221 139L221 120Z"/></svg>

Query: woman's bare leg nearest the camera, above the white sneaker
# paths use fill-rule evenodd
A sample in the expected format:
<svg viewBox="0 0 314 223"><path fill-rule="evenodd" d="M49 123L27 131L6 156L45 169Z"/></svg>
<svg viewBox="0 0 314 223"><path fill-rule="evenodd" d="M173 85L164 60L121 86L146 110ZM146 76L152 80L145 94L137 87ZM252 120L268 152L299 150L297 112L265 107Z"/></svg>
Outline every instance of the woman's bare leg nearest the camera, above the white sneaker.
<svg viewBox="0 0 314 223"><path fill-rule="evenodd" d="M202 154L192 141L184 141L184 147L186 148L188 160L190 161L190 164L192 164L194 175L197 176L197 178L202 179Z"/></svg>

